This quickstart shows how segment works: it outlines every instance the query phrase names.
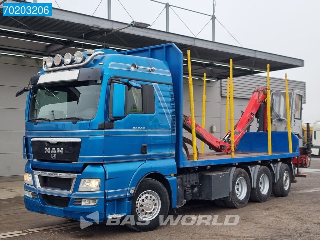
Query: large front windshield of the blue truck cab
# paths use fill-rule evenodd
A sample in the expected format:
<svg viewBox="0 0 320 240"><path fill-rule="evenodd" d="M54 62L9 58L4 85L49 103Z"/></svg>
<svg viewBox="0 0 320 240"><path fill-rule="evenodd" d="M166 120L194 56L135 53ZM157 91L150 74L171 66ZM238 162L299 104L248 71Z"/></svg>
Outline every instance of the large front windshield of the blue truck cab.
<svg viewBox="0 0 320 240"><path fill-rule="evenodd" d="M36 85L31 92L29 121L85 121L96 116L99 81L74 81Z"/></svg>

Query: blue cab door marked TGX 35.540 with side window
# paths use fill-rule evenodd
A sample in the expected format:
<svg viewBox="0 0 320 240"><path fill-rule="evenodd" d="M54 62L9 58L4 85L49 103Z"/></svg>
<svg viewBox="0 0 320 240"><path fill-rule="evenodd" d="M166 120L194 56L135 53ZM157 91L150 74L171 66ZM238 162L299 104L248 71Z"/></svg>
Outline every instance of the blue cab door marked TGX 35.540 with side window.
<svg viewBox="0 0 320 240"><path fill-rule="evenodd" d="M123 82L124 100L116 95ZM110 85L109 101L104 130L104 161L146 161L147 159L147 114L144 113L142 89L127 84L126 79L117 79ZM120 86L121 87L121 86ZM116 102L113 102L116 101ZM124 105L123 116L115 116L119 105ZM117 114L116 114L117 115Z"/></svg>

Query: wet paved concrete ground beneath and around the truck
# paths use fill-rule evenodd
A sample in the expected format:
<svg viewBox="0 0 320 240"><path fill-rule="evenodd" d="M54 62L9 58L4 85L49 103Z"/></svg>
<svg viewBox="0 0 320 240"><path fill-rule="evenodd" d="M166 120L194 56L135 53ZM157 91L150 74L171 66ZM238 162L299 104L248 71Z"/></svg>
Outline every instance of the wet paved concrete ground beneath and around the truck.
<svg viewBox="0 0 320 240"><path fill-rule="evenodd" d="M292 184L287 197L271 196L266 203L252 203L241 209L217 207L193 201L177 214L239 215L235 226L163 226L137 233L124 226L93 224L85 229L78 222L28 212L24 208L22 182L0 183L0 239L320 239L320 158L313 158L308 178ZM232 221L230 221L232 222Z"/></svg>

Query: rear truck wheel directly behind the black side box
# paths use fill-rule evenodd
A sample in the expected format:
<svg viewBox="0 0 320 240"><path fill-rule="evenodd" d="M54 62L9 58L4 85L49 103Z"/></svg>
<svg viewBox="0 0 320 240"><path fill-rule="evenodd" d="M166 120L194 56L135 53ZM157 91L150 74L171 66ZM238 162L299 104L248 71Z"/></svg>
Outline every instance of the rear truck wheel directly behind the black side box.
<svg viewBox="0 0 320 240"><path fill-rule="evenodd" d="M230 194L230 201L225 201L226 206L232 208L244 207L250 197L250 178L244 169L237 168L232 177L232 188Z"/></svg>

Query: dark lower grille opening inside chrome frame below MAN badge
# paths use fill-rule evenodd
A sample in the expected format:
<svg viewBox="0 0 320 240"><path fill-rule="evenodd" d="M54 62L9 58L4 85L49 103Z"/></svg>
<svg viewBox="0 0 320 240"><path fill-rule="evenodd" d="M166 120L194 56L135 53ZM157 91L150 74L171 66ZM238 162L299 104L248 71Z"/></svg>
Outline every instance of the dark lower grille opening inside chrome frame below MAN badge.
<svg viewBox="0 0 320 240"><path fill-rule="evenodd" d="M71 178L55 178L47 176L38 176L41 188L57 188L65 191L70 191L72 187Z"/></svg>

